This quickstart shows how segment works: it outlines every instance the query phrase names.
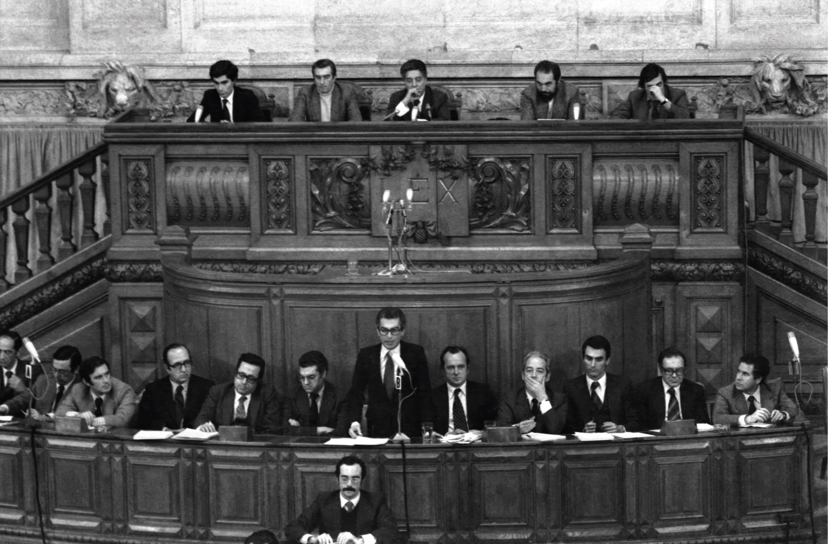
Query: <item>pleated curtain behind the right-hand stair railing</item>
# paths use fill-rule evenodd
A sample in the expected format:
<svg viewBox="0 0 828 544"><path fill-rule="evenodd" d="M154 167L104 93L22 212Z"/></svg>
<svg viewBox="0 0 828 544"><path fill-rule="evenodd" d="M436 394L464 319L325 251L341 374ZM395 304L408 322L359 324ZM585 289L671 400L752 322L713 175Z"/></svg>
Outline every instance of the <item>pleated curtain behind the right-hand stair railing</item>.
<svg viewBox="0 0 828 544"><path fill-rule="evenodd" d="M818 122L748 122L748 126L768 136L782 146L797 151L821 165L826 164L826 145L828 145L828 125L824 119ZM745 146L744 153L744 198L750 207L750 220L756 217L755 196L753 194L753 146ZM768 219L781 221L782 212L779 209L779 160L776 155L771 154L769 161L770 180L768 185ZM802 172L797 169L791 175L794 182L793 192L793 238L796 242L805 241L805 212L802 206L802 193L805 193L805 186L802 185ZM826 191L826 180L821 179L816 186L816 193L819 200L816 203L816 241L826 241L826 215L828 215L828 191Z"/></svg>

